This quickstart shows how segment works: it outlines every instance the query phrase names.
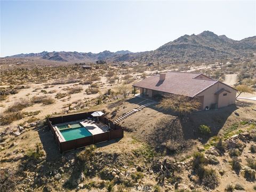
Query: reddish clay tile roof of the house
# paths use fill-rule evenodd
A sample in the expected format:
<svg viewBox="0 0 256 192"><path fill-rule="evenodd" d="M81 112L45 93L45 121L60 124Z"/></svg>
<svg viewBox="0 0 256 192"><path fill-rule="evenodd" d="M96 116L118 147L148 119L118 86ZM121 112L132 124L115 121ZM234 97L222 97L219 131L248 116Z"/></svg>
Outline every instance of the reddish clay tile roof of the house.
<svg viewBox="0 0 256 192"><path fill-rule="evenodd" d="M166 93L195 97L208 87L218 83L211 78L197 78L200 73L167 72L164 81L153 75L135 83L133 86L162 91Z"/></svg>

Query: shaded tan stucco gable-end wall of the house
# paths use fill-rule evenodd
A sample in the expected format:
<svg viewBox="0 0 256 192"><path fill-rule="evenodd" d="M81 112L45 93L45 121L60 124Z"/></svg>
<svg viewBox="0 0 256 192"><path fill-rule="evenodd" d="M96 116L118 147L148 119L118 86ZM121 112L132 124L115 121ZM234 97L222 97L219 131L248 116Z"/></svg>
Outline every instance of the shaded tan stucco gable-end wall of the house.
<svg viewBox="0 0 256 192"><path fill-rule="evenodd" d="M228 90L230 93L223 91L219 95L215 94L220 89ZM227 93L227 95L223 96L223 93ZM206 106L210 108L213 103L218 103L218 108L220 108L226 107L236 102L236 90L231 89L229 86L219 82L196 96L204 96L203 109L205 109Z"/></svg>

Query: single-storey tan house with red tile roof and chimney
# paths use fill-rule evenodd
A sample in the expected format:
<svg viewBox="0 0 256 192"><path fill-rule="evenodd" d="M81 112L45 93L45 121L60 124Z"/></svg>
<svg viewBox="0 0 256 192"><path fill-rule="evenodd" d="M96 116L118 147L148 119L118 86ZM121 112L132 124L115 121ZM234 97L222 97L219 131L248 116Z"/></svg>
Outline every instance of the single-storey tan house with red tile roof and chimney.
<svg viewBox="0 0 256 192"><path fill-rule="evenodd" d="M221 108L234 104L237 90L201 73L167 72L153 75L133 85L140 89L140 97L177 94L198 98L201 109Z"/></svg>

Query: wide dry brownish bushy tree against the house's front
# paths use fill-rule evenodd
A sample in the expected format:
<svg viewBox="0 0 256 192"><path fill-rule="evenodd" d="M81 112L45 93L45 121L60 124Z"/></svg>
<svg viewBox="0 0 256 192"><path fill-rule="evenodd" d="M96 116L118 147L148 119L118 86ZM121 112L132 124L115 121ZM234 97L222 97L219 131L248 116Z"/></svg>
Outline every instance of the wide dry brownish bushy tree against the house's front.
<svg viewBox="0 0 256 192"><path fill-rule="evenodd" d="M193 98L181 96L181 95L170 95L169 97L163 98L157 107L163 110L173 110L179 113L180 116L186 116L194 110L197 110L201 103Z"/></svg>

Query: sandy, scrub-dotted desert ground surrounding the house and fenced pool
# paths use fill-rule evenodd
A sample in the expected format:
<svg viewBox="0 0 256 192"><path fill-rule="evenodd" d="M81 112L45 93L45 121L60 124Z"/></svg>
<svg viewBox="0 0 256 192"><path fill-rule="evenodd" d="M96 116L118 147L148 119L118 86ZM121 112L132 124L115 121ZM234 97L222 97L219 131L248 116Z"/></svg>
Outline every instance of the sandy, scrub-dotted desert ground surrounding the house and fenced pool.
<svg viewBox="0 0 256 192"><path fill-rule="evenodd" d="M154 103L119 122L124 138L98 144L86 161L84 149L60 154L51 132L45 129L46 117L81 111L102 110L114 121L148 102L134 97L134 82L169 70L200 72L231 86L241 83L255 89L255 79L244 75L253 74L255 69L244 71L244 63L223 65L220 74L218 63L92 65L92 70L85 70L74 63L17 62L1 65L1 174L8 175L8 179L1 177L2 189L225 191L228 185L237 190L240 185L244 191L255 190L255 178L247 177L247 172L255 172L253 100L238 99L235 106L198 111L186 118L163 111ZM256 94L243 93L240 97L253 98ZM210 127L211 132L202 135L198 130L201 125ZM220 139L224 151L218 148ZM209 171L208 179L201 178L195 165L202 154L198 165ZM248 159L254 159L254 164L249 166ZM169 172L169 166L174 173Z"/></svg>

